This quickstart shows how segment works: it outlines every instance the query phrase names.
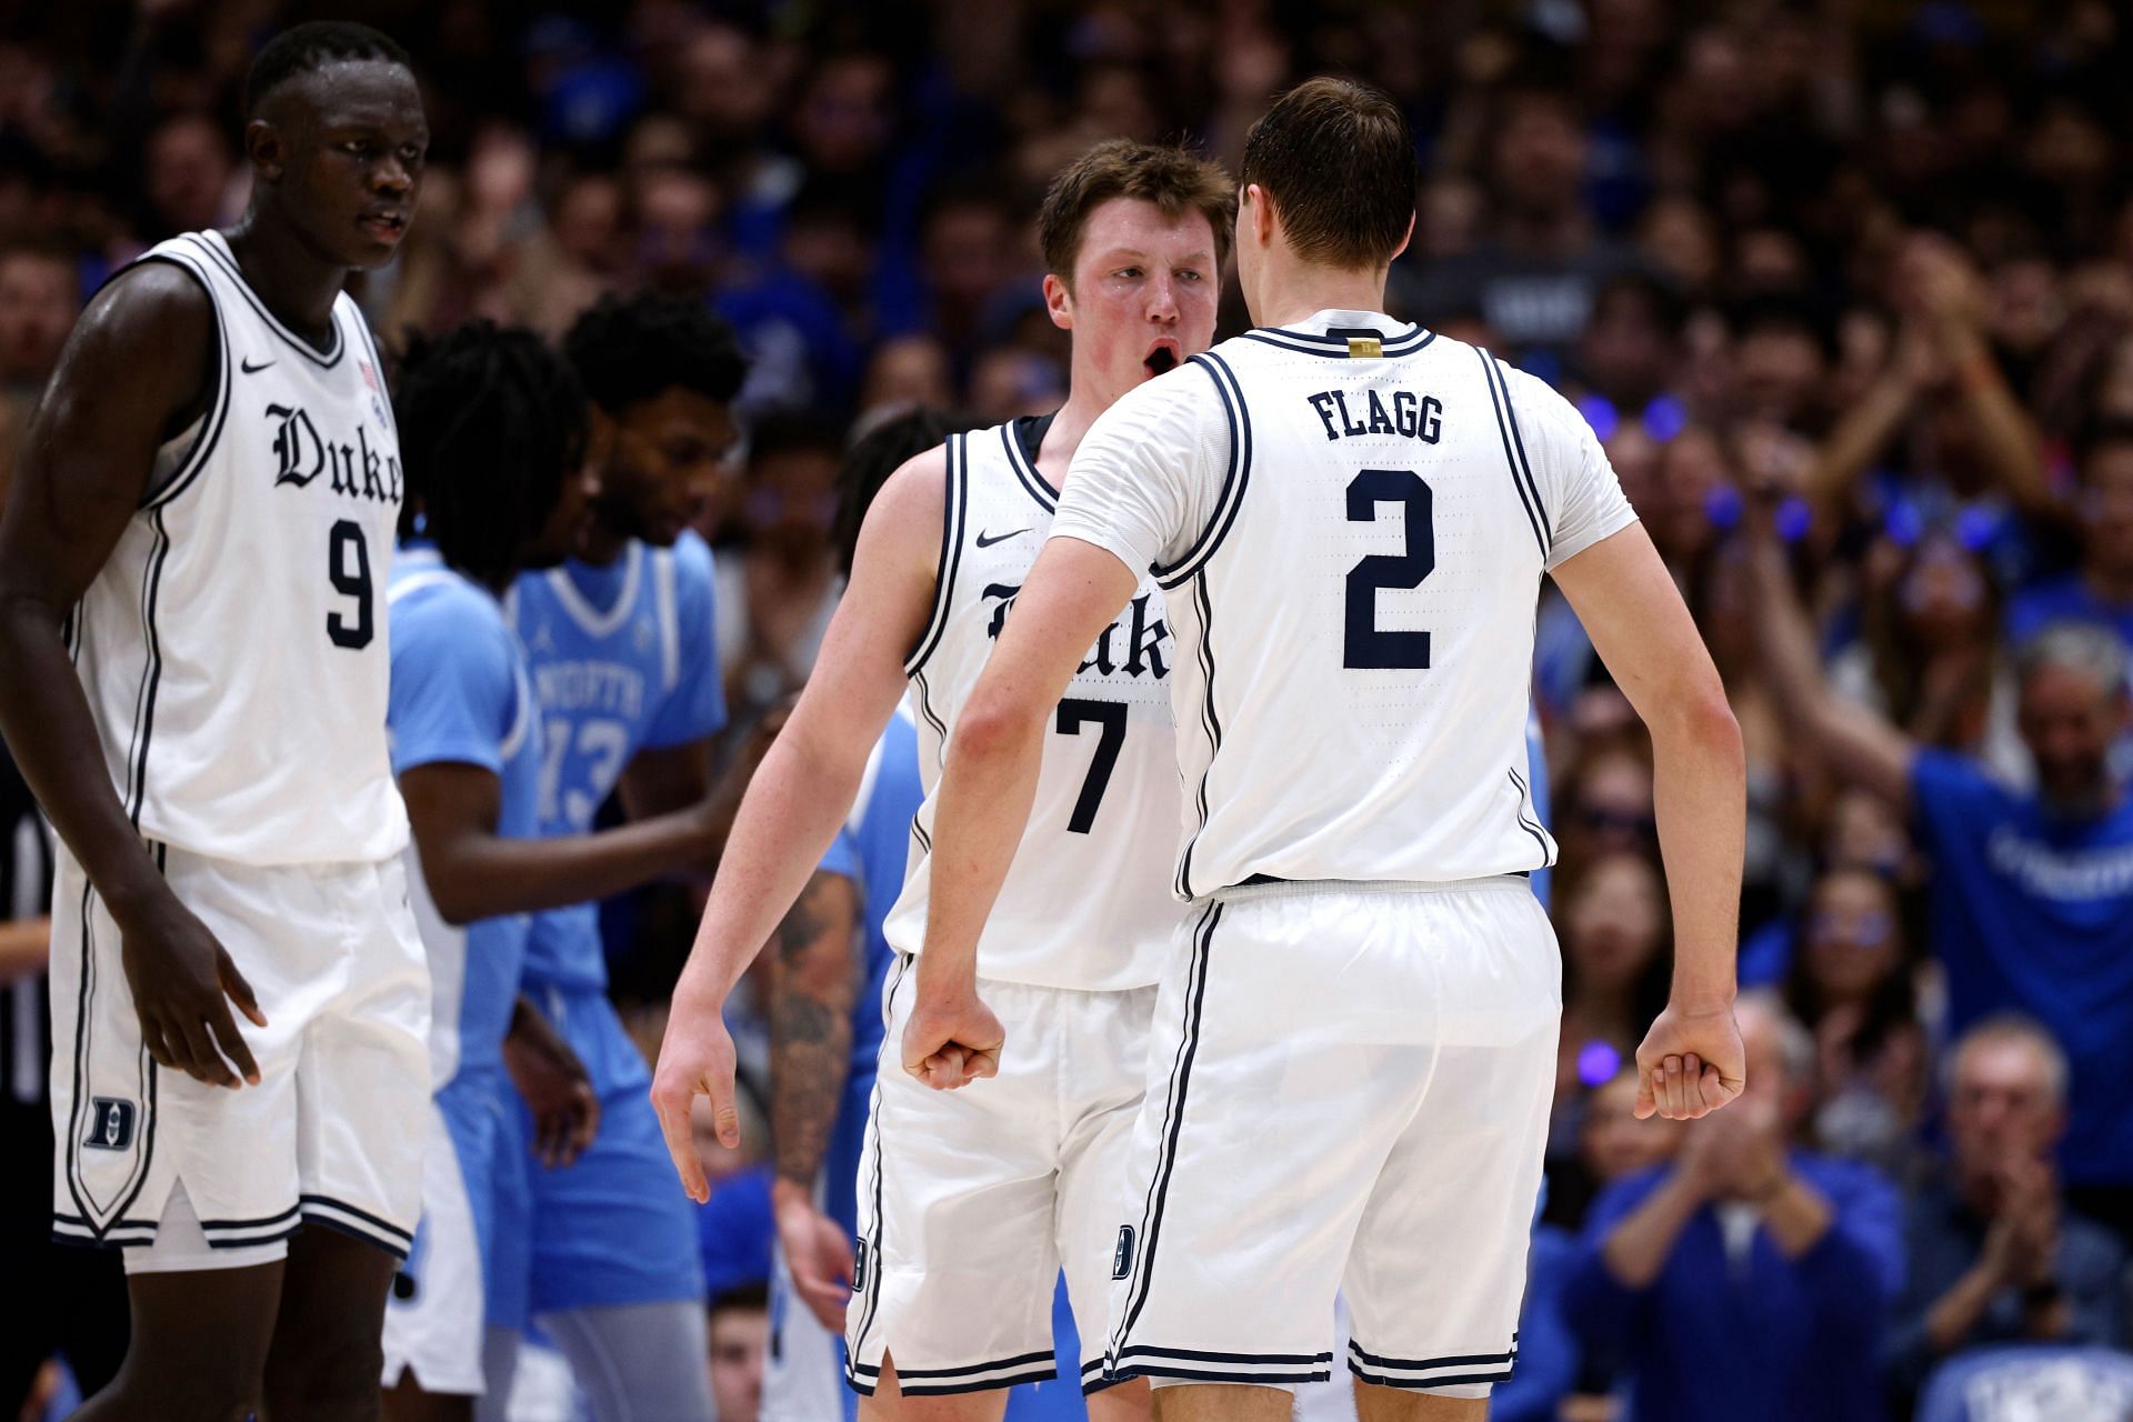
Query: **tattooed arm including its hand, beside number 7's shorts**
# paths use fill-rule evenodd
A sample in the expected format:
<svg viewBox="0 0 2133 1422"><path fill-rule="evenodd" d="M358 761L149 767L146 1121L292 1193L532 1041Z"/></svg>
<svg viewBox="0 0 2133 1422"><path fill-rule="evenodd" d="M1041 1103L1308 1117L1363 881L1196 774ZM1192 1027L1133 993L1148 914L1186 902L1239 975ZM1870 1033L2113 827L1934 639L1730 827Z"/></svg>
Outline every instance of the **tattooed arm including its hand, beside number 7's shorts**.
<svg viewBox="0 0 2133 1422"><path fill-rule="evenodd" d="M851 1008L864 964L857 953L860 889L836 870L815 870L779 923L770 972L770 1202L793 1275L793 1292L823 1328L845 1326L851 1241L815 1209L815 1179L851 1070Z"/></svg>

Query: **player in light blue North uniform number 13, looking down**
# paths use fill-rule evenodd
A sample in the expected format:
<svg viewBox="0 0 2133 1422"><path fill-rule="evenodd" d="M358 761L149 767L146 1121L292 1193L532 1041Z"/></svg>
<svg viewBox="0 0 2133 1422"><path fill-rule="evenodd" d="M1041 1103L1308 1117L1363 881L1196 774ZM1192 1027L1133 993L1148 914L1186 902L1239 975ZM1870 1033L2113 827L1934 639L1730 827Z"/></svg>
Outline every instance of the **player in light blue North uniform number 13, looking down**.
<svg viewBox="0 0 2133 1422"><path fill-rule="evenodd" d="M725 725L712 565L687 524L734 439L747 362L700 301L655 294L602 301L563 350L591 399L602 484L576 554L523 573L508 603L544 721L540 829L589 834L612 791L636 821L706 812L723 825L729 812L706 804L710 736ZM525 1138L495 1226L482 1411L501 1413L533 1315L602 1422L708 1418L695 1213L665 1164L644 1057L608 1002L599 904L580 900L533 919L525 993L591 1072L599 1134L550 1166L531 1149L529 1109L514 1106Z"/></svg>

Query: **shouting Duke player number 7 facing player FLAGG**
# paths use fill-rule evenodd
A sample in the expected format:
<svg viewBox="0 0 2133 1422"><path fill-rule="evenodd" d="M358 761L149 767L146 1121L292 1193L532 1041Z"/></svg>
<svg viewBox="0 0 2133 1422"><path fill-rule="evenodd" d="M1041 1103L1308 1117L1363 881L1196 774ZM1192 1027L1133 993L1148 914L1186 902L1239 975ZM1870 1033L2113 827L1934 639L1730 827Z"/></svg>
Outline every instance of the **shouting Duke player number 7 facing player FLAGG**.
<svg viewBox="0 0 2133 1422"><path fill-rule="evenodd" d="M785 733L764 759L674 993L655 1085L674 1164L697 1198L689 1102L734 1141L725 993L830 846L868 748L909 684L919 765L939 780L949 721L1052 522L1081 433L1126 390L1214 337L1229 181L1180 149L1103 143L1045 196L1045 301L1073 333L1066 405L949 439L904 465L866 516L851 588ZM1009 1089L941 1098L881 1072L857 1181L847 1381L870 1418L998 1418L1005 1388L1056 1375L1052 1294L1064 1258L1081 1318L1101 1315L1118 1147L1141 1092L1150 985L1177 919L1160 844L1175 825L1173 657L1154 586L1092 629L1043 750L1039 821L988 936L983 972L1032 1051ZM894 1043L921 949L932 806L913 823L887 919ZM1041 1043L1041 1047L1037 1047ZM1088 1330L1094 1345L1098 1330ZM1081 1381L1096 1381L1096 1354ZM1090 1399L1145 1416L1141 1388Z"/></svg>

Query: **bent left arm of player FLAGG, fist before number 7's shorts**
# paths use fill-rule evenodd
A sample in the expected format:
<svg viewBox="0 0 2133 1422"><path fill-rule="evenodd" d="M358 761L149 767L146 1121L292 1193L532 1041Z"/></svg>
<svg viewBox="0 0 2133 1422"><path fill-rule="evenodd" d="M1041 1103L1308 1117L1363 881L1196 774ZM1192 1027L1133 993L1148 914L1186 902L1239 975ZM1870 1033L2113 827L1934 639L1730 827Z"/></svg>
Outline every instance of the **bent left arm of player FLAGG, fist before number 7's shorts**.
<svg viewBox="0 0 2133 1422"><path fill-rule="evenodd" d="M1137 586L1118 554L1047 539L956 718L934 812L926 953L904 1032L904 1070L926 1085L960 1087L998 1070L1000 1025L977 1000L977 938L1037 799L1052 708Z"/></svg>

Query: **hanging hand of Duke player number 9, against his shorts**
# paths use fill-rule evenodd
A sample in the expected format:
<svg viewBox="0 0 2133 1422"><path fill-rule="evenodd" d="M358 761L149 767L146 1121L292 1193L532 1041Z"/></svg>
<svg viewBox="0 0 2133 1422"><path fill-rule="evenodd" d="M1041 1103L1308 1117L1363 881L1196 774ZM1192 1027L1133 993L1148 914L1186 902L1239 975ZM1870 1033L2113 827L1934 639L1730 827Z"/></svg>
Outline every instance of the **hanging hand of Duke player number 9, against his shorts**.
<svg viewBox="0 0 2133 1422"><path fill-rule="evenodd" d="M209 1085L258 1085L258 1062L230 1017L235 1002L252 1025L267 1025L252 985L175 893L158 898L141 921L119 927L119 962L147 1055Z"/></svg>

